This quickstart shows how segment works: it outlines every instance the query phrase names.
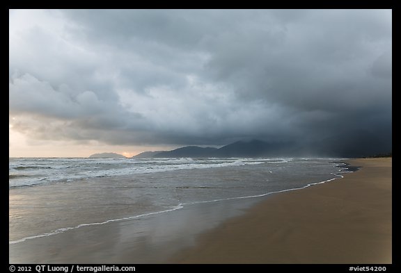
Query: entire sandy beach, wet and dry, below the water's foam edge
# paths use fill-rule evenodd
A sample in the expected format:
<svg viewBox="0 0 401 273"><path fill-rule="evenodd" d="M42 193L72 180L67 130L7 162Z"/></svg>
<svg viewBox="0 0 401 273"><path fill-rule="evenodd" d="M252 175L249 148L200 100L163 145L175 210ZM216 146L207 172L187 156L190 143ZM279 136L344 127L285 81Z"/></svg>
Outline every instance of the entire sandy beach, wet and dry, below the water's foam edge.
<svg viewBox="0 0 401 273"><path fill-rule="evenodd" d="M187 204L11 244L9 262L391 263L391 158L349 163L361 169L301 190ZM68 185L77 193L74 187L85 183ZM60 187L67 185L47 188L55 193ZM42 198L43 189L30 190Z"/></svg>

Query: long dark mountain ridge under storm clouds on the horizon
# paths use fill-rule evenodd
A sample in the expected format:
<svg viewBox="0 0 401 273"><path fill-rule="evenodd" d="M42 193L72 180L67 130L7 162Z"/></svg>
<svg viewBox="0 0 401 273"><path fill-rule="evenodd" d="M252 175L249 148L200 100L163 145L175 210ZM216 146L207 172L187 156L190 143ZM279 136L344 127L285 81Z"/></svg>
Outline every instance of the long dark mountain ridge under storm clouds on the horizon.
<svg viewBox="0 0 401 273"><path fill-rule="evenodd" d="M304 143L265 142L262 140L237 141L219 149L187 146L172 151L144 152L134 158L258 158L258 157L343 157L358 158L391 153L388 149L374 147L372 143L383 142L376 135L354 132ZM141 156L143 155L143 156Z"/></svg>

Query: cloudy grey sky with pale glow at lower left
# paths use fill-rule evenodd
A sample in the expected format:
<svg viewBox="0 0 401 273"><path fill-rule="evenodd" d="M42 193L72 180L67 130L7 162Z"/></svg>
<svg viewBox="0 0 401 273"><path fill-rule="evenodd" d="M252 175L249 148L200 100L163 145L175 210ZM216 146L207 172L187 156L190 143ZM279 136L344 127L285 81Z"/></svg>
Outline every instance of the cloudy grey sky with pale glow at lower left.
<svg viewBox="0 0 401 273"><path fill-rule="evenodd" d="M388 151L391 91L391 10L9 11L10 157Z"/></svg>

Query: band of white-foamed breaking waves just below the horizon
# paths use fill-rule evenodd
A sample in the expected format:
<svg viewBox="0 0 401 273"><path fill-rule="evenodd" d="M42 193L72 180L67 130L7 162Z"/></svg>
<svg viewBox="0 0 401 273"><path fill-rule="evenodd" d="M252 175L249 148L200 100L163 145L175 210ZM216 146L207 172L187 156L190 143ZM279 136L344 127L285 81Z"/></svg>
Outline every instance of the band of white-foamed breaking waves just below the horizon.
<svg viewBox="0 0 401 273"><path fill-rule="evenodd" d="M43 162L45 162L45 164ZM272 159L251 160L249 158L152 158L151 160L132 158L24 158L22 161L13 160L10 162L9 173L26 174L26 177L23 179L9 180L9 186L10 188L15 188L46 185L61 181L77 181L96 177L125 176L169 172L180 169L205 169L278 162L288 161L284 159L281 159L281 161L272 161ZM24 172L15 171L16 167L25 165L31 165L37 168L24 170ZM47 168L49 165L51 165L52 168Z"/></svg>

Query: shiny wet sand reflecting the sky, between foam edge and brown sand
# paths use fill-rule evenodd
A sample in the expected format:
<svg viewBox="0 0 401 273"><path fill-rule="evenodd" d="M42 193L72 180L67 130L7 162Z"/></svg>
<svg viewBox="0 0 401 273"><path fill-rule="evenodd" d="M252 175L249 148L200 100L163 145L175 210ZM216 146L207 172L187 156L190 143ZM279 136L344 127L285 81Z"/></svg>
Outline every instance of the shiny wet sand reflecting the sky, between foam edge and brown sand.
<svg viewBox="0 0 401 273"><path fill-rule="evenodd" d="M249 198L192 204L140 221L82 226L9 245L9 263L166 263L181 249L195 246L197 235L244 214L256 202L257 198Z"/></svg>

